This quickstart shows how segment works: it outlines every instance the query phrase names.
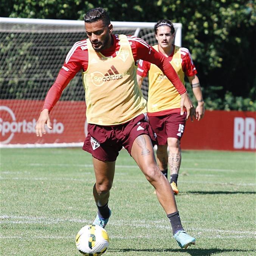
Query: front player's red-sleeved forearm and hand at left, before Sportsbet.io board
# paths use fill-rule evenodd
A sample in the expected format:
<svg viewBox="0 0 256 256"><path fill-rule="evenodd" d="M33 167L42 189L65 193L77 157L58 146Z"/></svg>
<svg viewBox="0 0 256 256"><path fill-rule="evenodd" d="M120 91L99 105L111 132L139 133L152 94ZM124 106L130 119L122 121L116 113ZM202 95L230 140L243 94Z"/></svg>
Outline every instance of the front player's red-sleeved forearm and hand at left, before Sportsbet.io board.
<svg viewBox="0 0 256 256"><path fill-rule="evenodd" d="M42 137L45 134L45 124L49 129L52 129L50 124L50 116L49 113L56 102L61 97L61 94L65 87L68 85L72 78L66 78L62 76L60 73L58 74L54 84L51 86L50 90L48 91L45 101L42 107L42 111L40 112L39 118L36 122L36 136Z"/></svg>

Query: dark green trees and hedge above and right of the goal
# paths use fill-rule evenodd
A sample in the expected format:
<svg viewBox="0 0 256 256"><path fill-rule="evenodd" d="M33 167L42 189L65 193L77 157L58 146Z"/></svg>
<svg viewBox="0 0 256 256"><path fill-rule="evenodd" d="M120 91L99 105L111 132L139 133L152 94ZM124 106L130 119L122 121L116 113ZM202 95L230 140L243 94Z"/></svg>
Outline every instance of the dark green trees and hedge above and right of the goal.
<svg viewBox="0 0 256 256"><path fill-rule="evenodd" d="M17 0L1 2L0 16L82 20L98 6L115 21L181 22L182 45L192 54L208 107L256 110L250 103L256 100L256 5L251 0Z"/></svg>

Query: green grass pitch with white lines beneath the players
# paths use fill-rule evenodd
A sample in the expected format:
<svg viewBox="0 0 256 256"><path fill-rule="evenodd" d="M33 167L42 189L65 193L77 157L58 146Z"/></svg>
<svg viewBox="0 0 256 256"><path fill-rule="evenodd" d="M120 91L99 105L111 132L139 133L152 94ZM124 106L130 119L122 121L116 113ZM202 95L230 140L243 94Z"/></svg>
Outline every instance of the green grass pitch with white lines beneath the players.
<svg viewBox="0 0 256 256"><path fill-rule="evenodd" d="M1 149L0 157L0 254L82 255L76 233L96 216L91 155L81 149ZM183 250L153 187L121 150L104 255L256 255L255 174L252 152L182 152L175 198L183 227L196 238Z"/></svg>

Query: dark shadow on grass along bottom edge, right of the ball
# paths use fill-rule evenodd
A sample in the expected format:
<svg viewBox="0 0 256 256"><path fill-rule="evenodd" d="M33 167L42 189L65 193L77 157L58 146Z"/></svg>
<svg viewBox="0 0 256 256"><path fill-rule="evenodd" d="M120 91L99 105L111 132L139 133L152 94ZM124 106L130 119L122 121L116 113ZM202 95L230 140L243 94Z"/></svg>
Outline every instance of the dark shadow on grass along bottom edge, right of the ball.
<svg viewBox="0 0 256 256"><path fill-rule="evenodd" d="M113 251L113 252L120 252L120 253L125 253L125 252L130 252L130 251L137 251L137 252L141 252L141 253L145 253L143 255L147 255L146 253L164 253L164 252L171 252L171 253L183 253L186 252L188 254L190 254L191 256L210 256L213 255L214 253L228 253L228 252L239 252L241 253L250 253L250 252L254 252L254 250L231 250L231 249L217 249L217 248L213 248L213 249L132 249L132 248L126 248L126 249L109 249L108 251Z"/></svg>

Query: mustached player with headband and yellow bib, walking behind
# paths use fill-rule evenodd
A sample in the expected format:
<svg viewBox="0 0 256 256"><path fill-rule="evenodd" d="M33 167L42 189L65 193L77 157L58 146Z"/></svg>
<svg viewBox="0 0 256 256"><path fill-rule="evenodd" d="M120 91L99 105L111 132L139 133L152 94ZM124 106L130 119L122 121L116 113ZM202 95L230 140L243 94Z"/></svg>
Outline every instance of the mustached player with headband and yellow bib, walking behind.
<svg viewBox="0 0 256 256"><path fill-rule="evenodd" d="M196 119L199 121L203 118L205 109L197 71L189 50L172 44L175 29L170 20L159 20L154 29L158 44L153 48L168 59L183 84L184 76L187 76L198 102ZM137 70L140 86L147 74L149 78L147 111L149 124L157 134L157 163L164 176L168 178L169 162L171 187L174 194L178 194L177 179L182 160L180 140L185 129L186 115L180 115L181 96L175 85L157 65L140 60Z"/></svg>

